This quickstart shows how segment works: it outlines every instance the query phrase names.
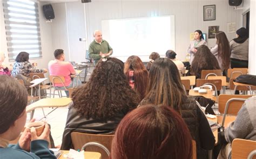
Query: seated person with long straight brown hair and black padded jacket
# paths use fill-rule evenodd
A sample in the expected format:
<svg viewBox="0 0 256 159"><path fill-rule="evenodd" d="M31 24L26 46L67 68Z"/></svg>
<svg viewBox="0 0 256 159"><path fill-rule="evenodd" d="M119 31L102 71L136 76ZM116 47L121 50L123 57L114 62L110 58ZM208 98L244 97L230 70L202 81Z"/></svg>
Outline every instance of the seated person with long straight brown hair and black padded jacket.
<svg viewBox="0 0 256 159"><path fill-rule="evenodd" d="M152 64L146 97L140 102L140 105L144 104L164 104L179 112L197 143L198 158L205 158L206 150L214 147L215 139L205 114L196 100L186 96L179 70L171 60L159 58Z"/></svg>

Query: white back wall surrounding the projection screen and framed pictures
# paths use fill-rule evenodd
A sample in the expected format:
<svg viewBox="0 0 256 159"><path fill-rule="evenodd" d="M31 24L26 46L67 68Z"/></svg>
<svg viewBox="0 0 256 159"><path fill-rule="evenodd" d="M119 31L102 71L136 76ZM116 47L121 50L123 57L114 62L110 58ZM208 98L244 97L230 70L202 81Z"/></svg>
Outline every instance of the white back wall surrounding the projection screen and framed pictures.
<svg viewBox="0 0 256 159"><path fill-rule="evenodd" d="M248 0L245 1L245 5L247 5ZM185 59L191 32L200 29L208 35L208 26L218 25L221 31L227 33L227 23L230 22L235 22L237 28L242 26L242 10L233 10L233 7L228 5L227 0L93 0L91 3L84 4L80 2L56 3L53 4L56 14L56 19L53 21L53 24L59 20L59 16L64 18L65 4L66 15L69 15L66 17L66 21L68 21L68 28L66 29L68 29L69 37L64 37L64 35L61 38L53 37L53 41L59 41L59 39L61 39L63 41L69 40L69 42L73 42L72 45L69 45L71 60L77 60L76 58L72 58L72 54L74 53L76 56L79 56L79 59L82 58L85 54L85 48L88 47L88 45L85 47L80 46L81 42L77 41L78 35L80 35L80 37L86 37L83 25L86 24L88 35L87 44L90 44L93 40L93 31L101 30L102 20L174 15L176 25L176 52L180 59ZM216 5L216 20L203 21L203 6L212 4ZM84 5L85 10L81 7L82 5ZM84 11L86 21L80 21L83 20L84 15L82 12ZM72 16L70 16L70 14ZM64 19L62 19L62 22L63 23L59 23L58 21L58 23L56 22L58 25L53 26L55 34L57 34L56 31L63 33L64 29L57 29L59 25L65 28ZM76 28L76 32L74 27ZM231 40L235 37L235 33L227 33L227 37ZM120 33L120 38L122 39L122 33ZM207 39L207 42L208 47L215 45L215 39ZM62 46L66 47L66 42L64 43L65 45ZM77 48L79 48L79 50L77 50ZM152 50L152 52L153 51L154 50Z"/></svg>

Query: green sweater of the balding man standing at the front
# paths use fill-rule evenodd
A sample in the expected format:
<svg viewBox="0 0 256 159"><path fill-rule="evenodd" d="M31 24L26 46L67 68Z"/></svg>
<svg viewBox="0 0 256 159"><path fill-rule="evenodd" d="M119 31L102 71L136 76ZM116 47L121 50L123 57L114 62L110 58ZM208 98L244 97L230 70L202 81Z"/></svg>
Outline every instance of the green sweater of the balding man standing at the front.
<svg viewBox="0 0 256 159"><path fill-rule="evenodd" d="M89 57L95 60L95 63L97 63L101 58L99 53L102 52L106 54L109 53L110 50L112 50L112 48L109 46L109 42L107 42L106 40L102 40L102 44L99 44L98 42L93 40L89 46Z"/></svg>

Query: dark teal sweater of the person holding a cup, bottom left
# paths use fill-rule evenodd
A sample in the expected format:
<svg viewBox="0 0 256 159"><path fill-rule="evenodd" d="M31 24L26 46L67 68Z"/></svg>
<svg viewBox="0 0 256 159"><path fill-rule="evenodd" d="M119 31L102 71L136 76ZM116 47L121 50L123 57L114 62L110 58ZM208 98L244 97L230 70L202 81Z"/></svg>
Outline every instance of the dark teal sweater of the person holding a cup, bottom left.
<svg viewBox="0 0 256 159"><path fill-rule="evenodd" d="M10 144L6 148L0 148L0 158L56 158L53 151L48 148L48 141L46 140L35 140L31 141L30 153L24 151L19 144Z"/></svg>

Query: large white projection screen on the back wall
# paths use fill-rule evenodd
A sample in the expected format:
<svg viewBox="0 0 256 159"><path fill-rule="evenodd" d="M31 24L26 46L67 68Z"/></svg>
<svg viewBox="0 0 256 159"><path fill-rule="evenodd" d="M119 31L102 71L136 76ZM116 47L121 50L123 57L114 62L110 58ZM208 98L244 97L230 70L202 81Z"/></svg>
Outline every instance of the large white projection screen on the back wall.
<svg viewBox="0 0 256 159"><path fill-rule="evenodd" d="M102 31L113 56L148 59L151 52L164 55L167 49L175 50L174 16L103 20Z"/></svg>

